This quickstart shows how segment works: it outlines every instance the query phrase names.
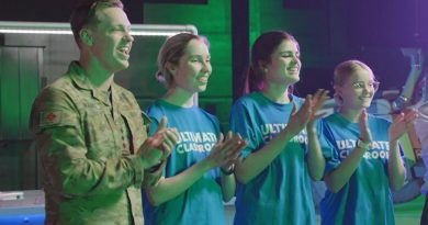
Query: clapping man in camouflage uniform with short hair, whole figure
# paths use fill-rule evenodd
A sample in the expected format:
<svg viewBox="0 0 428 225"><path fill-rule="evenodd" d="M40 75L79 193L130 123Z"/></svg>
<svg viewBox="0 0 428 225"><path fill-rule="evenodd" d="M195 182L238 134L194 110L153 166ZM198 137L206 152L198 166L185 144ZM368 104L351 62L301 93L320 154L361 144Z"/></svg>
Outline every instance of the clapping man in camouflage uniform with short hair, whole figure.
<svg viewBox="0 0 428 225"><path fill-rule="evenodd" d="M45 224L143 224L140 187L157 182L177 143L166 120L147 138L134 95L113 81L133 37L120 0L86 1L71 15L79 61L33 104L44 169Z"/></svg>

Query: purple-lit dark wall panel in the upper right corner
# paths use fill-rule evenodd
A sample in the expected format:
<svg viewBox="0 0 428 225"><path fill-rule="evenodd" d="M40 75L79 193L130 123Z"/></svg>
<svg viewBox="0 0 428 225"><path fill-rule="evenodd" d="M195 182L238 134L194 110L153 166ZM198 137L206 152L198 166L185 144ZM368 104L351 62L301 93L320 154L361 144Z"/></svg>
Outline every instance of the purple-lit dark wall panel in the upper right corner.
<svg viewBox="0 0 428 225"><path fill-rule="evenodd" d="M428 1L353 0L348 4L349 38L357 45L428 44Z"/></svg>

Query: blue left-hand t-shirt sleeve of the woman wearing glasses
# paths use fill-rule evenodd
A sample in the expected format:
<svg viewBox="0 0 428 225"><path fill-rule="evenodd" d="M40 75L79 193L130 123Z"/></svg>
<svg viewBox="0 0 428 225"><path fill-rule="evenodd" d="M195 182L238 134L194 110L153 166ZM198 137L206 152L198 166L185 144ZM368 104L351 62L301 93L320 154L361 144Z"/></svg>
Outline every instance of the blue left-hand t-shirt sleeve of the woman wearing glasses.
<svg viewBox="0 0 428 225"><path fill-rule="evenodd" d="M340 159L337 149L334 145L334 138L329 130L326 127L326 122L319 120L317 123L317 133L319 137L319 146L323 156L326 159L324 176L336 169L340 165Z"/></svg>

